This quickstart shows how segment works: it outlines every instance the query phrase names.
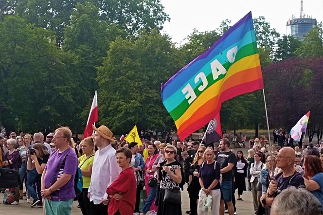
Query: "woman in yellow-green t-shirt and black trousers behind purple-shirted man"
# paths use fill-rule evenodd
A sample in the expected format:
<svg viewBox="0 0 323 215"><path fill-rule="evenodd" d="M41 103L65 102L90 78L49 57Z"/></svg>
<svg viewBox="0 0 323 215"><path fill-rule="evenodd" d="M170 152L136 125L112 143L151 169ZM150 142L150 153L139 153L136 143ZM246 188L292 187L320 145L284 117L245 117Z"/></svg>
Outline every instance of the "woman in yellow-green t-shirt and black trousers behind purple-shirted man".
<svg viewBox="0 0 323 215"><path fill-rule="evenodd" d="M90 199L88 198L88 190L92 175L92 166L94 161L94 142L91 137L87 137L80 143L82 145L83 155L78 158L78 167L82 171L83 189L78 196L78 204L83 215L90 215Z"/></svg>

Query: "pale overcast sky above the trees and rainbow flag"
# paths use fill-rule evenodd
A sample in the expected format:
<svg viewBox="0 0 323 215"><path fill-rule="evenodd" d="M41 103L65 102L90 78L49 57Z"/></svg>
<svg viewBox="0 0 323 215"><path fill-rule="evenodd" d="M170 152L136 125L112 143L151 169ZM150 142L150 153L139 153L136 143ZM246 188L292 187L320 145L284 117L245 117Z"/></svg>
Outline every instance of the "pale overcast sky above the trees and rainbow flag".
<svg viewBox="0 0 323 215"><path fill-rule="evenodd" d="M323 0L303 0L305 15L323 20ZM165 12L171 18L164 23L163 32L180 43L196 28L198 31L215 30L221 20L232 24L249 11L252 18L264 16L281 35L286 34L286 22L295 15L299 18L301 0L162 0Z"/></svg>

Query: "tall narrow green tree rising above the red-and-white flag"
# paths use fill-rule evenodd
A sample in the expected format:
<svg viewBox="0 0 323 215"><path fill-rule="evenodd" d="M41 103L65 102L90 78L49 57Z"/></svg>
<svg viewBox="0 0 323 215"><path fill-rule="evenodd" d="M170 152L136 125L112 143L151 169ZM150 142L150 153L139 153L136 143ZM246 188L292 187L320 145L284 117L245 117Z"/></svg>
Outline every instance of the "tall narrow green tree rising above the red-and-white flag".
<svg viewBox="0 0 323 215"><path fill-rule="evenodd" d="M70 22L71 25L64 30L63 50L77 58L77 64L72 71L78 74L74 80L78 86L80 106L86 107L80 115L85 123L89 114L86 105L91 104L94 91L98 89L95 67L102 65L109 43L116 36L125 37L126 33L115 25L101 21L99 8L89 2L76 5Z"/></svg>

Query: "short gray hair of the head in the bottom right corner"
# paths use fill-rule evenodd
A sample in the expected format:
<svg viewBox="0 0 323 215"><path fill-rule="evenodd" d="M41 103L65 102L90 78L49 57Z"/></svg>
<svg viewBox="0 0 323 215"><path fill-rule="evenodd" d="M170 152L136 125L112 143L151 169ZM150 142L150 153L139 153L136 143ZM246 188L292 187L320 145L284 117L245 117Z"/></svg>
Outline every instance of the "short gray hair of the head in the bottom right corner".
<svg viewBox="0 0 323 215"><path fill-rule="evenodd" d="M319 200L304 188L289 187L273 201L271 212L276 215L323 215Z"/></svg>

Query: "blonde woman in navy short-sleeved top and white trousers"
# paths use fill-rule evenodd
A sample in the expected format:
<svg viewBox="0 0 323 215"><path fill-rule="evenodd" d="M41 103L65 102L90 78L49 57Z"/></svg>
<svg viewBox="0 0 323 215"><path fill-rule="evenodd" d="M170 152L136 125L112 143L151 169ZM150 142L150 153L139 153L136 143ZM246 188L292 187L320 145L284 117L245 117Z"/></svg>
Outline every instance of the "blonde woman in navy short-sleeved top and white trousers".
<svg viewBox="0 0 323 215"><path fill-rule="evenodd" d="M207 215L210 211L203 210L203 202L206 196L211 195L212 206L211 214L220 214L220 201L221 201L221 191L220 191L220 174L221 166L218 162L214 160L215 154L212 149L206 149L203 154L204 162L199 169L199 184L201 190L199 192L198 200L198 215Z"/></svg>

